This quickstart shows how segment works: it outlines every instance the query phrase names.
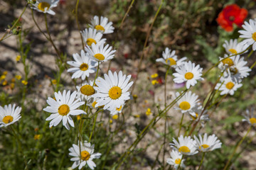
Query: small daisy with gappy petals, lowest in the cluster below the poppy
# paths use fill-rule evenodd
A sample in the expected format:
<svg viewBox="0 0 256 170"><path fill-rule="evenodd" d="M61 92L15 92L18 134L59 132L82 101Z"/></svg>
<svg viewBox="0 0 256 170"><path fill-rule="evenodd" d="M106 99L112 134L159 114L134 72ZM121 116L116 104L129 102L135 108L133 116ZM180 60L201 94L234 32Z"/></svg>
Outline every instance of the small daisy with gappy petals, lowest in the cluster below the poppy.
<svg viewBox="0 0 256 170"><path fill-rule="evenodd" d="M215 90L221 91L220 95L230 94L232 96L241 86L242 84L233 81L231 77L221 77L220 83L216 84L215 86Z"/></svg>

